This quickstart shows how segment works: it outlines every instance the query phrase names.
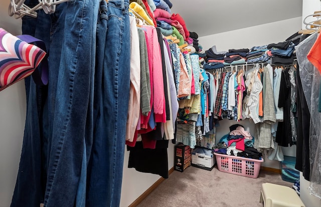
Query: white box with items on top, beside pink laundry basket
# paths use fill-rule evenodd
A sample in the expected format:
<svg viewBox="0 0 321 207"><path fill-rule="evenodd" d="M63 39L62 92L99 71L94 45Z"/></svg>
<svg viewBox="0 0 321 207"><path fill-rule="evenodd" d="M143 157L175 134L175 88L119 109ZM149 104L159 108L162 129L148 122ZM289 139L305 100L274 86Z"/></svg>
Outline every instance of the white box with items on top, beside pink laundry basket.
<svg viewBox="0 0 321 207"><path fill-rule="evenodd" d="M211 149L198 147L192 151L192 166L212 170L216 163Z"/></svg>

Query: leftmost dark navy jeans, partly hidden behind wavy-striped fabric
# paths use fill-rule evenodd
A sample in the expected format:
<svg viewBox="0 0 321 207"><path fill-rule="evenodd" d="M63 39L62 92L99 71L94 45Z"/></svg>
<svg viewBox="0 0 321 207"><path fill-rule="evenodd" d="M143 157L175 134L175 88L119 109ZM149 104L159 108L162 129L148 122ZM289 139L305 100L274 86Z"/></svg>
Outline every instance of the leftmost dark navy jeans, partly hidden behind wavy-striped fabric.
<svg viewBox="0 0 321 207"><path fill-rule="evenodd" d="M24 4L33 8L38 4L38 1L26 0ZM46 19L42 20L46 21ZM39 22L38 18L24 16L22 18L23 34L37 37L36 28ZM48 42L44 39L41 40L45 42L48 49ZM43 183L46 183L46 176L43 173L46 165L42 163L41 155L41 147L44 145L42 126L45 123L40 120L40 117L43 115L43 105L47 98L48 87L37 86L32 76L29 76L25 78L25 88L27 97L25 132L11 206L39 206L44 199L45 186Z"/></svg>

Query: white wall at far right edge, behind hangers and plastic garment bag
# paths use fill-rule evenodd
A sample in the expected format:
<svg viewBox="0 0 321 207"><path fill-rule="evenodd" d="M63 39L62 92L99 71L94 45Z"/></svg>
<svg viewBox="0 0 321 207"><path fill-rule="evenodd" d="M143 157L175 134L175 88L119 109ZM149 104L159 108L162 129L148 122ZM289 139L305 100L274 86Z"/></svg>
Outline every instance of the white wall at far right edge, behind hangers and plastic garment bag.
<svg viewBox="0 0 321 207"><path fill-rule="evenodd" d="M306 16L313 14L315 11L321 11L321 3L319 0L303 0L302 2L302 29L305 29L303 20ZM308 18L306 22L315 20L315 18ZM300 198L302 199L305 206L321 206L321 200L316 196L310 195L309 190L309 181L305 180L302 172L300 172Z"/></svg>

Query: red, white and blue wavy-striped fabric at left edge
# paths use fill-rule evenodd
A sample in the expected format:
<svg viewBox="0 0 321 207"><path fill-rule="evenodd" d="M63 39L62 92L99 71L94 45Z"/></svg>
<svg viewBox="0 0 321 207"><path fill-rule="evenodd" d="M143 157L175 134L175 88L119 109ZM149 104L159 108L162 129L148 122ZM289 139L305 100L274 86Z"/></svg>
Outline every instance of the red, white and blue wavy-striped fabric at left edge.
<svg viewBox="0 0 321 207"><path fill-rule="evenodd" d="M0 91L30 76L46 53L0 28Z"/></svg>

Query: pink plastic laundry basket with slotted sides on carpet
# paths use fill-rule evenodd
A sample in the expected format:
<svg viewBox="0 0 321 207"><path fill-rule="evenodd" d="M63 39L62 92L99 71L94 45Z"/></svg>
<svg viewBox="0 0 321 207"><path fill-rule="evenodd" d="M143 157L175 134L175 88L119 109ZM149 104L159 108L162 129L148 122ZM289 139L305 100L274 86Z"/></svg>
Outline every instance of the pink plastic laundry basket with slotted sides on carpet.
<svg viewBox="0 0 321 207"><path fill-rule="evenodd" d="M261 162L264 159L251 159L227 154L215 153L217 167L222 172L257 178L260 172Z"/></svg>

